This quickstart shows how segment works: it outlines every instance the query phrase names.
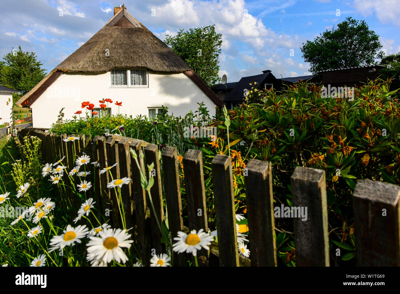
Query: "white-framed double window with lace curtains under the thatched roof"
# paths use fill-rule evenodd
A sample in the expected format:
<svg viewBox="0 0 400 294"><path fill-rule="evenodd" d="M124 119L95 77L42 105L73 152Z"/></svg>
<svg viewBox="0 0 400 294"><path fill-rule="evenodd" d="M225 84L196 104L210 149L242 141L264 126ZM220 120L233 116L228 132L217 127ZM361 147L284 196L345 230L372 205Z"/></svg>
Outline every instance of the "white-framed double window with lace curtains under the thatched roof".
<svg viewBox="0 0 400 294"><path fill-rule="evenodd" d="M110 70L110 87L148 87L148 74L143 69Z"/></svg>

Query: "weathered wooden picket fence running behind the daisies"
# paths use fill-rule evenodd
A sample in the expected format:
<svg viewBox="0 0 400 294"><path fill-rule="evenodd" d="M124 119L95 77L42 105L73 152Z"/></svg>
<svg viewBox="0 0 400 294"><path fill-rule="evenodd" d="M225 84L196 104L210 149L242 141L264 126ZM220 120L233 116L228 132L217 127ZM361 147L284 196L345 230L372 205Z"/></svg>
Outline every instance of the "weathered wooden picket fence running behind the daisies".
<svg viewBox="0 0 400 294"><path fill-rule="evenodd" d="M185 197L188 211L188 228L182 221L182 202L178 154L176 148L166 147L162 152L163 179L160 175L158 146L147 142L116 135L95 136L94 138L79 135L79 140L64 142L64 135L46 133L33 128L19 130L19 138L26 135L42 139L42 157L46 162L54 162L56 158L66 157L63 161L68 169L75 166L74 155L86 153L92 161L100 163L100 169L118 163L111 169L112 178L132 179L129 185L122 186L122 204L126 216L126 227L133 227L132 237L144 265L148 266L152 252L166 252L160 242L161 232L156 219L164 220L162 200L162 181L168 208L168 224L172 236L178 231L203 228L208 230L206 197L204 189L202 153L189 150L183 157ZM130 155L130 148L137 154L144 154L144 165L154 163L156 171L154 185L151 188L152 200L156 216L149 209L148 195L140 184L140 173L136 162ZM96 201L99 212L107 209L113 227L121 226L118 211L119 197L114 189L106 188L112 179L108 173L99 175L94 166L88 168L94 175L95 190L90 197ZM210 250L198 252L200 266L276 266L276 241L274 202L272 194L271 163L250 160L245 177L246 204L249 227L250 259L238 254L236 242L236 220L232 183L231 158L216 155L212 161L212 180L214 183L214 207L216 226L218 228L218 244L212 244ZM100 184L100 185L99 185ZM326 202L325 171L306 167L296 167L291 177L292 205L307 207L307 221L294 219L294 238L296 244L297 266L329 266L328 245L328 210ZM79 207L78 199L70 193ZM399 198L397 185L358 180L353 193L354 234L356 236L356 264L358 266L400 266L400 234L399 234ZM215 242L214 242L215 243ZM336 246L336 245L334 245ZM346 251L341 248L341 255ZM187 254L173 252L174 266L186 266Z"/></svg>

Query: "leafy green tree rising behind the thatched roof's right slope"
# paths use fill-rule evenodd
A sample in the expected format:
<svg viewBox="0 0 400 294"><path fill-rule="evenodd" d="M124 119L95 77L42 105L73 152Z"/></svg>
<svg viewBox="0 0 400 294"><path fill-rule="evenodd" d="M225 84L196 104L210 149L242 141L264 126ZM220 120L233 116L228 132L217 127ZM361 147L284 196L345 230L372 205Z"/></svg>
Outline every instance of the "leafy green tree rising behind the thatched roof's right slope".
<svg viewBox="0 0 400 294"><path fill-rule="evenodd" d="M215 25L180 30L176 36L167 35L165 43L209 85L220 81L218 56L222 34L215 32Z"/></svg>

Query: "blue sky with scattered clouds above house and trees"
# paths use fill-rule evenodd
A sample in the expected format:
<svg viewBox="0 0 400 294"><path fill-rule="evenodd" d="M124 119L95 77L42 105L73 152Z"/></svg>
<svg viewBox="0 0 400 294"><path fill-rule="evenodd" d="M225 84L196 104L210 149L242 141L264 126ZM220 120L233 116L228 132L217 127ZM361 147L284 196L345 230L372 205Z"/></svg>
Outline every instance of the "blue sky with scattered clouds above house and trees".
<svg viewBox="0 0 400 294"><path fill-rule="evenodd" d="M0 56L22 47L50 72L89 40L119 2L14 0L0 11ZM399 0L124 0L161 40L190 27L215 24L223 35L220 75L228 82L272 70L276 77L307 75L302 43L347 16L365 20L387 54L400 52ZM152 16L153 14L153 16ZM292 54L291 54L292 53Z"/></svg>

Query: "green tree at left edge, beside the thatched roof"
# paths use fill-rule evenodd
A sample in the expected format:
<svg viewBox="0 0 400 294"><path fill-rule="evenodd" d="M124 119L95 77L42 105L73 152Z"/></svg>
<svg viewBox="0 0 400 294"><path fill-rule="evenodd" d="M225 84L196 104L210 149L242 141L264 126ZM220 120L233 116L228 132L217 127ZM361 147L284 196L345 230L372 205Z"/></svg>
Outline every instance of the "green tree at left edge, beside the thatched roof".
<svg viewBox="0 0 400 294"><path fill-rule="evenodd" d="M40 68L43 64L36 60L36 54L22 52L21 46L18 46L18 51L4 55L3 59L5 62L0 62L0 84L22 95L46 76L46 70Z"/></svg>

